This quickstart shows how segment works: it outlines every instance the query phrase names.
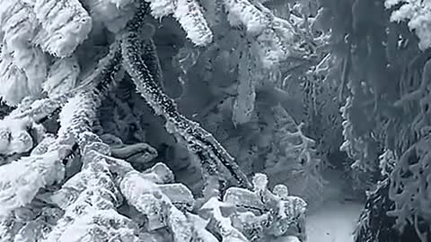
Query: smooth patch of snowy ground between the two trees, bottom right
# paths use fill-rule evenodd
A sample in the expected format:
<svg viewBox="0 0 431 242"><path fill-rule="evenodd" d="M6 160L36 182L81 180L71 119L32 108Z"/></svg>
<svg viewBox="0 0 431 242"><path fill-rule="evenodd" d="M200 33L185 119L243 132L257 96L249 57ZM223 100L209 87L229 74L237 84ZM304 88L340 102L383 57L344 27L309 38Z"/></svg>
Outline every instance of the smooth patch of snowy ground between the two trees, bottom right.
<svg viewBox="0 0 431 242"><path fill-rule="evenodd" d="M364 207L347 201L346 180L337 171L325 172L325 199L307 214L307 242L353 242L356 220Z"/></svg>

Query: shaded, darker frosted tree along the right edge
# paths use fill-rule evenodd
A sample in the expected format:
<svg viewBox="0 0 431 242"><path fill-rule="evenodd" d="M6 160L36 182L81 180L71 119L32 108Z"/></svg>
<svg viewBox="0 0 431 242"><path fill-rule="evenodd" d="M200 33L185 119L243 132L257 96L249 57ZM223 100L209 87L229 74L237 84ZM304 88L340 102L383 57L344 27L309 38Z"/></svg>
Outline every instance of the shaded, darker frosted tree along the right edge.
<svg viewBox="0 0 431 242"><path fill-rule="evenodd" d="M369 190L356 242L430 241L430 2L318 2L342 67L341 149Z"/></svg>

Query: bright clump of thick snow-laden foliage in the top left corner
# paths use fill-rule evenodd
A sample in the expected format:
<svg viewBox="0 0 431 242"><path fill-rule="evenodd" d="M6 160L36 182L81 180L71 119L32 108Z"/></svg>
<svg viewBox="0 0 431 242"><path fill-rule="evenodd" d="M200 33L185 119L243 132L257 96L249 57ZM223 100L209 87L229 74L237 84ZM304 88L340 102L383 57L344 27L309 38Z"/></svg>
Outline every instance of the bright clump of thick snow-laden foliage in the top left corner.
<svg viewBox="0 0 431 242"><path fill-rule="evenodd" d="M47 54L59 58L73 56L92 30L92 19L78 0L17 0L0 4L0 95L16 105L27 96L41 97L51 58Z"/></svg>

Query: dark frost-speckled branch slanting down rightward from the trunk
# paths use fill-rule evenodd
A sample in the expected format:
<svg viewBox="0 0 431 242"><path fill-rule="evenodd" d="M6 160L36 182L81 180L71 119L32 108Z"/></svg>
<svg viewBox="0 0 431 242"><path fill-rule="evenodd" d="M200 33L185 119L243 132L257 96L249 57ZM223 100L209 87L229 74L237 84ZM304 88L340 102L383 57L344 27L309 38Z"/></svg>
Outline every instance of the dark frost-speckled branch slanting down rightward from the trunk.
<svg viewBox="0 0 431 242"><path fill-rule="evenodd" d="M128 24L128 31L122 38L122 53L124 67L136 83L136 89L157 115L167 120L168 132L179 135L185 140L189 151L196 154L202 162L210 162L210 167L216 169L219 163L229 170L240 186L251 187L248 178L242 173L233 157L204 130L200 125L183 117L178 112L173 99L169 98L156 82L145 64L143 42L139 38L138 30L144 20L145 10L138 11L134 19ZM212 172L217 172L213 170Z"/></svg>

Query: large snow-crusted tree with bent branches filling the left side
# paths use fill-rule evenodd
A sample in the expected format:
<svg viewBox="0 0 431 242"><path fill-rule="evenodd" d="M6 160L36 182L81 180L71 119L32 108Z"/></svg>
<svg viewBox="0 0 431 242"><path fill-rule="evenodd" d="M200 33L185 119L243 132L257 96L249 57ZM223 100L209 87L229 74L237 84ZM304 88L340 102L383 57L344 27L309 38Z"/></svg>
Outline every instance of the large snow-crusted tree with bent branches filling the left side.
<svg viewBox="0 0 431 242"><path fill-rule="evenodd" d="M259 92L276 93L268 116L274 117L272 130L265 136L284 132L287 137L276 137L283 143L271 148L291 155L303 177L316 177L307 186L321 186L313 141L283 106L288 95L279 79L267 80L281 65L295 63L289 58L306 54L299 23L249 0L0 4L0 96L13 107L0 121L0 241L304 240L307 203L285 185L269 189L257 169L244 172L247 164L238 164L218 137L182 112L199 107L190 103L190 92L199 95L187 80L190 68L207 67L199 72L205 91L228 99L235 126L267 117L256 108ZM161 35L180 49L159 51ZM209 70L222 65L221 76L211 76ZM178 82L175 70L182 72ZM233 72L236 77L226 81L237 82L212 83ZM175 82L183 89L178 98L170 93ZM233 90L236 97L227 97ZM124 99L140 102L130 107ZM143 128L136 112L157 123L154 129L164 127L157 134L162 142L154 143L173 149L173 156L159 155L162 145L149 144L152 128ZM157 162L159 157L166 160ZM168 165L198 168L202 189L175 183Z"/></svg>

